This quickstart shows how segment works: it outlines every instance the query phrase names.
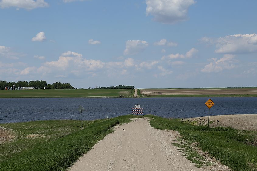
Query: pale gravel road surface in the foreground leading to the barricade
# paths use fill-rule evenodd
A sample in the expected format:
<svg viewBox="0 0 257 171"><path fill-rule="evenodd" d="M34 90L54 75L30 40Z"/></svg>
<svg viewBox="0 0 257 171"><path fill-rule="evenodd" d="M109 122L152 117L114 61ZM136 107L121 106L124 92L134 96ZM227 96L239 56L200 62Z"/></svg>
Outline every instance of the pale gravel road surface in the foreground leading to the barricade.
<svg viewBox="0 0 257 171"><path fill-rule="evenodd" d="M150 127L146 118L117 126L71 170L229 170L226 166L198 168L172 142L175 131Z"/></svg>

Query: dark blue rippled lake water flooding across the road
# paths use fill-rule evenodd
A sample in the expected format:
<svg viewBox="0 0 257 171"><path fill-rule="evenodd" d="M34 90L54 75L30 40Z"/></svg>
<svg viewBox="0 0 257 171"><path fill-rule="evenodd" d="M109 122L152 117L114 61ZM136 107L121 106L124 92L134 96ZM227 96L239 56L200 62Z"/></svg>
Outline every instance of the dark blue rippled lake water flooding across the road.
<svg viewBox="0 0 257 171"><path fill-rule="evenodd" d="M0 98L0 123L54 119L83 120L113 118L131 114L134 104L141 104L144 114L165 118L207 116L208 97L158 98ZM256 114L257 97L213 97L210 115Z"/></svg>

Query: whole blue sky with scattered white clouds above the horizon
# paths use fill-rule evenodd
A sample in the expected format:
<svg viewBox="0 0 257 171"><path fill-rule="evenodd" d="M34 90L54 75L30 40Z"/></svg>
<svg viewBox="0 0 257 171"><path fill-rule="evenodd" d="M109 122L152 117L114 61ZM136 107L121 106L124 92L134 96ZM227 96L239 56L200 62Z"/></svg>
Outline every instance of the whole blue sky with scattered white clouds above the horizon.
<svg viewBox="0 0 257 171"><path fill-rule="evenodd" d="M0 0L0 80L257 86L257 1Z"/></svg>

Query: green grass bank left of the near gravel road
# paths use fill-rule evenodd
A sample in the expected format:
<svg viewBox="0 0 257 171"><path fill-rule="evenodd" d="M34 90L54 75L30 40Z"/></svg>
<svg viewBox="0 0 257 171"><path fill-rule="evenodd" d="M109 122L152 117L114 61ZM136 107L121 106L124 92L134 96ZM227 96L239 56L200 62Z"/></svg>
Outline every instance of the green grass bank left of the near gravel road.
<svg viewBox="0 0 257 171"><path fill-rule="evenodd" d="M0 124L16 136L0 144L0 170L65 170L93 145L113 132L117 124L128 123L125 115L95 121L33 121ZM27 135L36 135L28 138ZM43 136L37 136L43 135Z"/></svg>

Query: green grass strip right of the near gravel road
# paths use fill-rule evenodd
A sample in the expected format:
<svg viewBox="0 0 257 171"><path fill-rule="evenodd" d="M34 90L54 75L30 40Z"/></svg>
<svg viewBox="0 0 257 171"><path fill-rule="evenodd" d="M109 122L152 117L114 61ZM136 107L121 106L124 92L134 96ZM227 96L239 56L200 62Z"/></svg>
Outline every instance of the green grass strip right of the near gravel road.
<svg viewBox="0 0 257 171"><path fill-rule="evenodd" d="M210 156L220 160L233 170L257 170L256 132L241 131L233 128L190 125L180 119L167 119L153 115L150 124L154 128L175 130L189 144L197 142L197 146Z"/></svg>

